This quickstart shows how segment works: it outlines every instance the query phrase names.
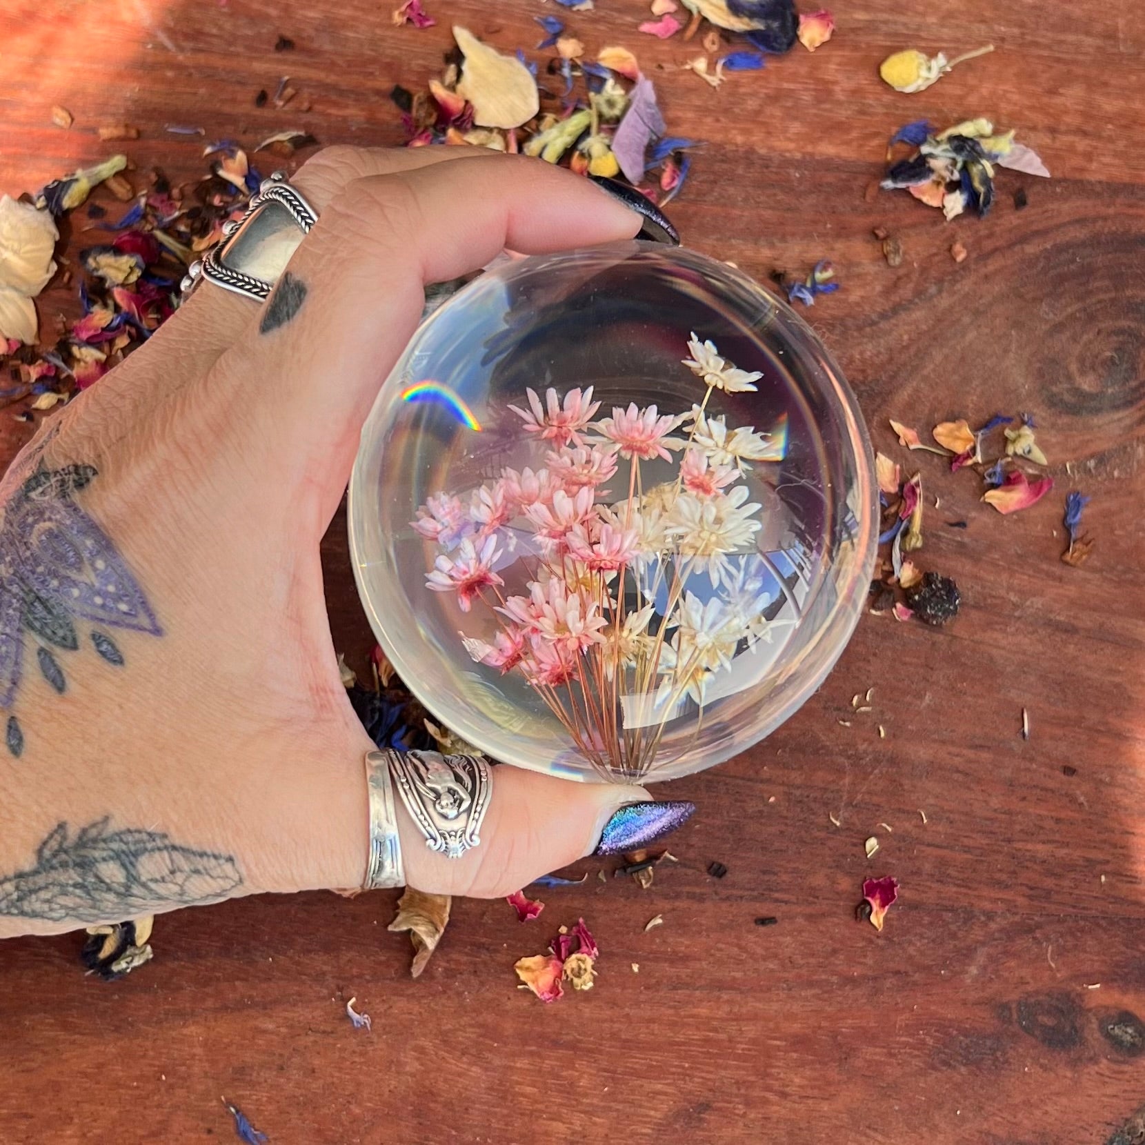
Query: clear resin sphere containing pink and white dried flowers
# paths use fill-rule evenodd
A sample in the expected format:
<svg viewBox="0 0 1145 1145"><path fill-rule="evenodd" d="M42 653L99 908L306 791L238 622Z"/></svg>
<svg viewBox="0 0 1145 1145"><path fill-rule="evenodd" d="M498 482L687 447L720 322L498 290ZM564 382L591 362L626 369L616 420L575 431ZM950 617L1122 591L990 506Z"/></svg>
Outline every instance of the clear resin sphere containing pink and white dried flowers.
<svg viewBox="0 0 1145 1145"><path fill-rule="evenodd" d="M767 735L853 631L855 400L771 292L631 243L518 259L413 335L350 482L378 641L493 759L656 781Z"/></svg>

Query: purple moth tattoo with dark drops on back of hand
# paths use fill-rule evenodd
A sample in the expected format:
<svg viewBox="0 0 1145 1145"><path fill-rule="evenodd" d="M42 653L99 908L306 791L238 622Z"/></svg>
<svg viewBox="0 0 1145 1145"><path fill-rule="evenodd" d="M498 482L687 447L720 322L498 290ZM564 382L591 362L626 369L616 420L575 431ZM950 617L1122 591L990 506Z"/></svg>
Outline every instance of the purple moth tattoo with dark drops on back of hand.
<svg viewBox="0 0 1145 1145"><path fill-rule="evenodd" d="M3 510L0 709L9 712L5 743L16 757L24 750L24 731L13 708L25 670L27 638L34 643L40 674L63 694L68 676L61 654L90 643L105 663L123 668L124 654L104 630L163 635L131 569L76 502L76 495L95 476L90 465L49 469L41 459Z"/></svg>

